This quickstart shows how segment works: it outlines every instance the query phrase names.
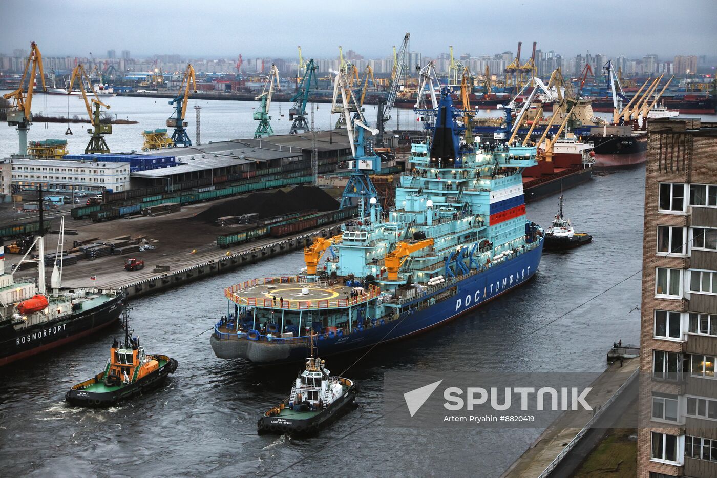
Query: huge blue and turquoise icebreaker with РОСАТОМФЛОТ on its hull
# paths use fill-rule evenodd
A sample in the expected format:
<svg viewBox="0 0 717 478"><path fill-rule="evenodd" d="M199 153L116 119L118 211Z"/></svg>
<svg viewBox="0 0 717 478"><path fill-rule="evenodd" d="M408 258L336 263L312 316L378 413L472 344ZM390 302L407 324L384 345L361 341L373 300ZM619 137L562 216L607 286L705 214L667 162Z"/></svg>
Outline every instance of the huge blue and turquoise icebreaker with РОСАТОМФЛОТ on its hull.
<svg viewBox="0 0 717 478"><path fill-rule="evenodd" d="M395 187L393 208L362 196L359 220L305 248L303 271L227 287L230 313L209 339L214 354L257 364L302 362L313 334L322 355L350 352L518 294L514 289L533 277L543 251L543 230L526 219L521 176L537 165L537 148L466 142L459 114L444 88L432 139L412 144L413 169ZM378 160L361 128L354 158L370 167ZM361 178L370 191L369 175Z"/></svg>

